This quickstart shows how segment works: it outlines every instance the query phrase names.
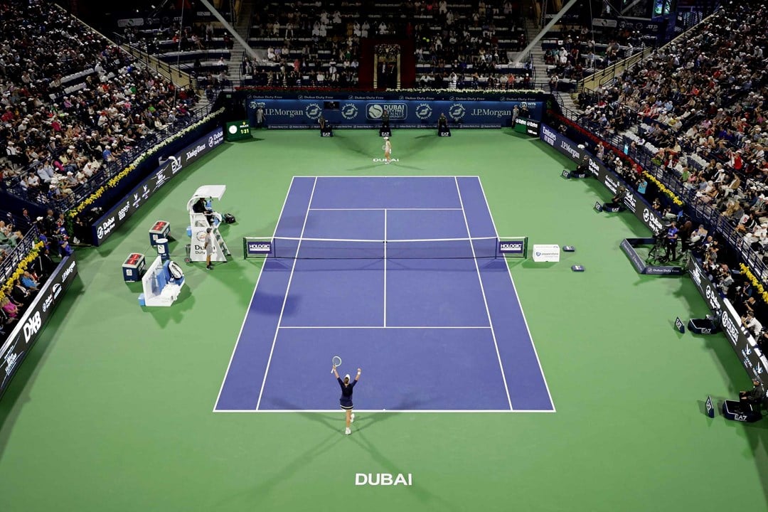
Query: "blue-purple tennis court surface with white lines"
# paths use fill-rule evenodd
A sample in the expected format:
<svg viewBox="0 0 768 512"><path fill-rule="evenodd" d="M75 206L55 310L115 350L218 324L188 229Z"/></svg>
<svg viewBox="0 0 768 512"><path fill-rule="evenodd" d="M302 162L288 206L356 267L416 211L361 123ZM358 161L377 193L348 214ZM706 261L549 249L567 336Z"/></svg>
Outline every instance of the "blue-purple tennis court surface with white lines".
<svg viewBox="0 0 768 512"><path fill-rule="evenodd" d="M387 240L384 243L384 240ZM554 411L478 177L295 177L214 411Z"/></svg>

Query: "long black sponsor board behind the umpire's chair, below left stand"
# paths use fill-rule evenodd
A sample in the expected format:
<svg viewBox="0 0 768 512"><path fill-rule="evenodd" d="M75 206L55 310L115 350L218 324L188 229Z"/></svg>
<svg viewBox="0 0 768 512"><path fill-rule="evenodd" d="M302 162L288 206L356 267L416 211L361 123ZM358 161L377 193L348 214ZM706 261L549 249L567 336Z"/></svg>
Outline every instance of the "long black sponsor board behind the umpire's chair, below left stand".
<svg viewBox="0 0 768 512"><path fill-rule="evenodd" d="M195 140L194 143L185 147L179 153L168 157L168 160L157 167L144 181L131 190L127 196L123 197L115 206L112 206L108 213L105 213L93 223L91 230L93 232L94 246L101 245L111 233L121 226L131 215L136 213L141 205L157 192L157 190L176 176L180 170L192 164L195 160L207 154L210 150L217 147L224 141L223 128L217 128L210 133Z"/></svg>

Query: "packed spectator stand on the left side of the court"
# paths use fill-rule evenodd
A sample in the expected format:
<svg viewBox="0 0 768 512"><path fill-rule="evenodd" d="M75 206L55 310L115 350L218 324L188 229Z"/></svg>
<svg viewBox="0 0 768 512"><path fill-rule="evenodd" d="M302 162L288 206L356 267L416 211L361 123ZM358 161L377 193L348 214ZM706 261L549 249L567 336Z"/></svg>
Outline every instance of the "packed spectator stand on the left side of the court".
<svg viewBox="0 0 768 512"><path fill-rule="evenodd" d="M67 210L196 117L192 91L137 66L57 5L0 9L6 192Z"/></svg>

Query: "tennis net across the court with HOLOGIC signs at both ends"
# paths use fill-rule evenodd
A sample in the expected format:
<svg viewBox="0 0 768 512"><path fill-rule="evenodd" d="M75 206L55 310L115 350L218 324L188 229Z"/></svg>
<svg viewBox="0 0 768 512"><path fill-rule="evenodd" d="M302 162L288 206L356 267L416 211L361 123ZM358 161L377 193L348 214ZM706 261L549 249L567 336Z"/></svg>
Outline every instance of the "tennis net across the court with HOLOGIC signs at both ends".
<svg viewBox="0 0 768 512"><path fill-rule="evenodd" d="M278 259L488 259L521 256L508 250L511 238L497 236L436 239L329 239L248 237L243 239L246 257ZM515 247L527 246L526 237L515 237Z"/></svg>

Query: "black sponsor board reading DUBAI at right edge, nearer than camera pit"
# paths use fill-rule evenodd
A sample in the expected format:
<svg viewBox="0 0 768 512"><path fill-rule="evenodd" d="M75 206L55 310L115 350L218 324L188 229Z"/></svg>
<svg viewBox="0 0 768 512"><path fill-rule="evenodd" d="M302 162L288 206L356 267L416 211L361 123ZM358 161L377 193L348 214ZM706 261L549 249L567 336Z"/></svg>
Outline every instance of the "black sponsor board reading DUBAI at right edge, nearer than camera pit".
<svg viewBox="0 0 768 512"><path fill-rule="evenodd" d="M730 346L733 347L746 372L753 378L764 378L768 359L760 353L760 348L756 346L754 339L744 334L741 319L733 306L730 305L730 301L720 296L707 273L694 258L688 259L688 273L690 273L690 279L693 280L699 293L707 302L707 306L717 316L720 328L723 329L725 337L730 342Z"/></svg>

